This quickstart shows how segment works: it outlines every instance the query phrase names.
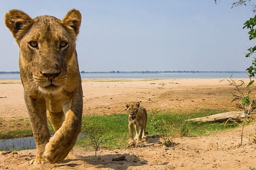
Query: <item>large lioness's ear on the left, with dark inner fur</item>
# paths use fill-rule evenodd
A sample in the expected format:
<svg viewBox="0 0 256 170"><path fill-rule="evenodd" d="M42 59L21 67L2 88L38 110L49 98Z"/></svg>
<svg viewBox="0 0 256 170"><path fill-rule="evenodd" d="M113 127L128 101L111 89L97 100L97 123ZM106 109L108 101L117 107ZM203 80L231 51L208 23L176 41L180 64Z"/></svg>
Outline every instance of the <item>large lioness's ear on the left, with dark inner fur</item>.
<svg viewBox="0 0 256 170"><path fill-rule="evenodd" d="M4 21L18 42L29 29L32 19L25 12L13 9L5 14Z"/></svg>

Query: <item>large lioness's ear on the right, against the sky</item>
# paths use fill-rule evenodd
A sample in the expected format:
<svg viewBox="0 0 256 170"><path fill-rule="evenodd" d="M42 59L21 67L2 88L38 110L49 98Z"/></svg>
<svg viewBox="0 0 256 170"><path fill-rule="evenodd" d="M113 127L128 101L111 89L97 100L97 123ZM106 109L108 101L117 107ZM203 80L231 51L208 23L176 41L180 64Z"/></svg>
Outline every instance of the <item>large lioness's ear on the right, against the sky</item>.
<svg viewBox="0 0 256 170"><path fill-rule="evenodd" d="M67 27L72 28L75 31L76 35L78 35L81 21L82 21L81 13L76 9L71 9L65 15L61 23L66 25Z"/></svg>

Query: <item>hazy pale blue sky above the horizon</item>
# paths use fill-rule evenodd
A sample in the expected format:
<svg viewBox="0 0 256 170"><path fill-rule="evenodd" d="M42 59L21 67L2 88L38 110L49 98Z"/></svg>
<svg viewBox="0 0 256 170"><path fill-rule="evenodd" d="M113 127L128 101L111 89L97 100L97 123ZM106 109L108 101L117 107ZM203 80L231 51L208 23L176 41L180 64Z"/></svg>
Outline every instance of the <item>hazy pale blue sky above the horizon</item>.
<svg viewBox="0 0 256 170"><path fill-rule="evenodd" d="M80 71L244 71L248 39L243 24L249 7L231 9L232 0L61 0L0 1L0 71L18 71L19 49L4 25L10 9L31 17L62 19L72 8L82 13L77 41Z"/></svg>

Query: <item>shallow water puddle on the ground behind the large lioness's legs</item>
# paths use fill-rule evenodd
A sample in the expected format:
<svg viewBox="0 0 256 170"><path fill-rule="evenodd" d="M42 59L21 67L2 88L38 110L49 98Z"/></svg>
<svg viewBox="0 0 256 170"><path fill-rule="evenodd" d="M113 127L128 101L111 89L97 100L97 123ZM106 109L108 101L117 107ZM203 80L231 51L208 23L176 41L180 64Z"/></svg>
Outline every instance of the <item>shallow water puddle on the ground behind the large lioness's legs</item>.
<svg viewBox="0 0 256 170"><path fill-rule="evenodd" d="M86 137L86 134L79 134L79 138ZM27 150L35 149L34 137L23 137L23 138L12 138L12 139L1 139L0 150Z"/></svg>

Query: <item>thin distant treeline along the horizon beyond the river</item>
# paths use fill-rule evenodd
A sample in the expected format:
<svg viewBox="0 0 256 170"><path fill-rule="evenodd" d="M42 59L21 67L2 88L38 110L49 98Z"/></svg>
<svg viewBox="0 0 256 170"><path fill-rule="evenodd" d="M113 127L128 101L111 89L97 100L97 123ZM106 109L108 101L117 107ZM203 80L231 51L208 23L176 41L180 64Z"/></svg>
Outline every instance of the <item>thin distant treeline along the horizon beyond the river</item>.
<svg viewBox="0 0 256 170"><path fill-rule="evenodd" d="M195 73L195 72L246 72L246 71L81 71L81 73ZM0 74L19 74L19 71L0 71Z"/></svg>

